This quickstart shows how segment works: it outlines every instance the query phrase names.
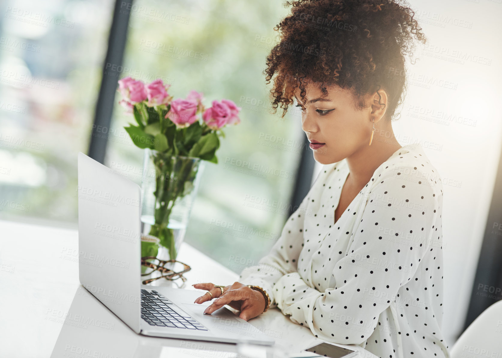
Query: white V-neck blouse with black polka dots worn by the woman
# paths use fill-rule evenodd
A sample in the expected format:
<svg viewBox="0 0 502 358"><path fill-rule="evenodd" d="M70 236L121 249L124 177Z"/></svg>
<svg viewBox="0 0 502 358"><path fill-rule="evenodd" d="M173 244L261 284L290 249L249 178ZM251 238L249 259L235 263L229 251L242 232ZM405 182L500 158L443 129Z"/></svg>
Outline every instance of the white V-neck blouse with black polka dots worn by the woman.
<svg viewBox="0 0 502 358"><path fill-rule="evenodd" d="M447 357L439 174L420 145L400 148L334 222L349 174L324 165L281 236L239 282L263 287L291 321L380 357ZM265 313L266 314L266 313Z"/></svg>

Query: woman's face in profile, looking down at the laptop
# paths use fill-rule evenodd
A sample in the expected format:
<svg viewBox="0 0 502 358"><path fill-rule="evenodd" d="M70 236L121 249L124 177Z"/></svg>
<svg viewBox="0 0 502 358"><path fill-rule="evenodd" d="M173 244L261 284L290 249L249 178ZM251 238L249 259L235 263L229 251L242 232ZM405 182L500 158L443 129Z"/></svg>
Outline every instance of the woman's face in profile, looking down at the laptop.
<svg viewBox="0 0 502 358"><path fill-rule="evenodd" d="M367 146L373 128L371 105L356 110L348 90L338 86L327 86L326 89L328 93L323 96L318 86L309 83L305 107L300 89L295 91L296 105L302 109L302 130L311 142L314 159L321 164L338 162Z"/></svg>

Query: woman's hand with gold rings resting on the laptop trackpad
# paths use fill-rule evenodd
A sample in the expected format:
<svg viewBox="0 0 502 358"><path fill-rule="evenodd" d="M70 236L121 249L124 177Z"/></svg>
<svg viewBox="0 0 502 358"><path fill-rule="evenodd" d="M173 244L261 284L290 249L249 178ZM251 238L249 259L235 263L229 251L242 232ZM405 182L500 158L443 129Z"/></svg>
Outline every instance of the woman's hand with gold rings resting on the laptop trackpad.
<svg viewBox="0 0 502 358"><path fill-rule="evenodd" d="M196 283L192 285L194 288L211 291L215 300L206 308L204 313L211 314L224 305L239 310L239 317L247 321L251 318L259 316L265 309L265 297L260 291L247 287L240 282L234 282L232 285L225 286L223 294L218 287L213 283ZM204 294L198 297L194 303L202 303L209 301L210 295Z"/></svg>

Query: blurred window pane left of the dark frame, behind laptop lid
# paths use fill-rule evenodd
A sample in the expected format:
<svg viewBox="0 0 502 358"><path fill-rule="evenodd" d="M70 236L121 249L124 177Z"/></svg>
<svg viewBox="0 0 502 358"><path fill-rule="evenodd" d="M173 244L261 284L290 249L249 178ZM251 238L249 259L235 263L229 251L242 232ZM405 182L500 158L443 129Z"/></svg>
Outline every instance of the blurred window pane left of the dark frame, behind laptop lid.
<svg viewBox="0 0 502 358"><path fill-rule="evenodd" d="M17 0L0 17L0 217L77 222L113 1Z"/></svg>

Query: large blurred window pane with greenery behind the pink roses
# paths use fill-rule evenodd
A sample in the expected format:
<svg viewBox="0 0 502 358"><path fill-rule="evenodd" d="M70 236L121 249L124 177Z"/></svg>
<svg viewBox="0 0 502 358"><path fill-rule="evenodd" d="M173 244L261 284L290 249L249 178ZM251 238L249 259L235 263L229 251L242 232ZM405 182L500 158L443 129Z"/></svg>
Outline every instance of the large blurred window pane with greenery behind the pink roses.
<svg viewBox="0 0 502 358"><path fill-rule="evenodd" d="M191 89L204 103L227 98L242 108L241 123L225 130L218 164L204 163L185 241L229 269L255 264L279 237L303 145L300 113L271 114L262 71L275 44L280 3L138 1L121 78L162 78L175 98ZM269 85L270 86L270 85ZM143 150L123 130L134 119L117 104L105 165L141 184ZM295 113L296 112L296 113Z"/></svg>

